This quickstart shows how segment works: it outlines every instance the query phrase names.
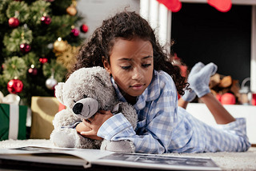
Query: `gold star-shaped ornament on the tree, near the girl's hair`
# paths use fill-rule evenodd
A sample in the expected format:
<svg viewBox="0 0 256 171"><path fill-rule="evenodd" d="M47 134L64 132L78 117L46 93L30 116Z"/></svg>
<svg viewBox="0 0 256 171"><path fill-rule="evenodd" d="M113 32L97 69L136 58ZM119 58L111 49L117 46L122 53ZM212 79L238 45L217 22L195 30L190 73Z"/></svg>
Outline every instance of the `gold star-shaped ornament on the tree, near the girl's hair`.
<svg viewBox="0 0 256 171"><path fill-rule="evenodd" d="M55 53L58 63L61 63L66 67L67 70L70 70L74 63L76 62L76 58L74 55L77 53L78 47L67 45L67 48L64 52Z"/></svg>

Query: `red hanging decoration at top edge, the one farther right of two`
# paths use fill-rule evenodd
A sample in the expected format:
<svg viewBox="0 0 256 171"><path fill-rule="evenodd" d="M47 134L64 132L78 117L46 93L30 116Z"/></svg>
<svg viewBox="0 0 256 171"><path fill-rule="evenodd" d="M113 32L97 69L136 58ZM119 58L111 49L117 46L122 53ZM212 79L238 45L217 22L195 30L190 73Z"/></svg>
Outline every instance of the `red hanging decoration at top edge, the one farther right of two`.
<svg viewBox="0 0 256 171"><path fill-rule="evenodd" d="M227 12L231 9L231 0L207 0L210 6L214 6L217 10L221 12Z"/></svg>

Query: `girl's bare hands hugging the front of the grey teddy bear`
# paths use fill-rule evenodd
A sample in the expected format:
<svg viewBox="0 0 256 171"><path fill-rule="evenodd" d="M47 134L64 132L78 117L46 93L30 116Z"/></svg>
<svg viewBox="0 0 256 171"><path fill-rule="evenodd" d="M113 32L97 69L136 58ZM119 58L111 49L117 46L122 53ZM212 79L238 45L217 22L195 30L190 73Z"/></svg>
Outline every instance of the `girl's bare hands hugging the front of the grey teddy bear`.
<svg viewBox="0 0 256 171"><path fill-rule="evenodd" d="M88 120L83 120L82 123L86 125L90 130L82 131L80 134L83 137L88 137L94 140L102 140L102 137L98 137L98 129L102 126L102 124L112 117L113 114L108 111L101 110L99 113L95 113L94 117L90 117Z"/></svg>

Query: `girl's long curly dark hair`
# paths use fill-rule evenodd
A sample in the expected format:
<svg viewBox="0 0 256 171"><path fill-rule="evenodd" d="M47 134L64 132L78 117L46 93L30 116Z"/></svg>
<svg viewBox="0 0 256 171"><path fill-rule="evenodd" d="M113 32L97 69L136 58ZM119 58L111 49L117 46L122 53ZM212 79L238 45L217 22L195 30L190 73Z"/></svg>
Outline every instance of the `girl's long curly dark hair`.
<svg viewBox="0 0 256 171"><path fill-rule="evenodd" d="M154 30L149 23L135 12L124 11L104 20L102 26L98 27L91 38L81 46L77 62L70 72L82 67L103 67L102 57L110 62L110 52L117 38L126 40L142 38L145 41L150 41L154 50L154 70L163 70L170 74L178 93L184 94L184 88L188 85L186 78L180 74L179 67L172 64L171 59L168 58L169 56L155 38Z"/></svg>

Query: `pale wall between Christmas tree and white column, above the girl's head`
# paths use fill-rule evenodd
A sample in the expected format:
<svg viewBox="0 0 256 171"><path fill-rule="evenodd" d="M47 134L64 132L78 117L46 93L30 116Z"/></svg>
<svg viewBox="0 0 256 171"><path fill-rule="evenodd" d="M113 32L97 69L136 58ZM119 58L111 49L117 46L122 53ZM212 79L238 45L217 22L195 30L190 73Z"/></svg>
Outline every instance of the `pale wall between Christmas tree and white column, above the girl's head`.
<svg viewBox="0 0 256 171"><path fill-rule="evenodd" d="M129 7L130 6L130 7ZM127 7L127 8L126 8ZM139 13L139 0L78 0L77 10L82 14L89 30L86 34L81 34L82 37L88 38L93 34L98 26L102 25L102 21L117 12L122 10L134 10ZM80 23L79 23L80 24ZM81 25L81 24L80 24ZM80 26L78 25L78 26Z"/></svg>

